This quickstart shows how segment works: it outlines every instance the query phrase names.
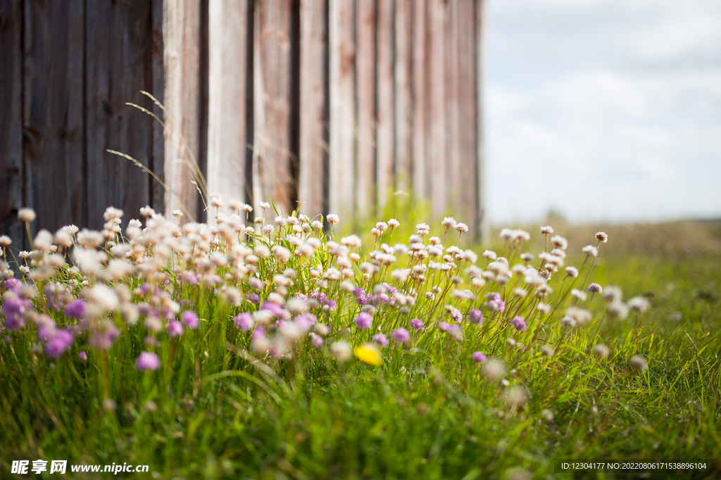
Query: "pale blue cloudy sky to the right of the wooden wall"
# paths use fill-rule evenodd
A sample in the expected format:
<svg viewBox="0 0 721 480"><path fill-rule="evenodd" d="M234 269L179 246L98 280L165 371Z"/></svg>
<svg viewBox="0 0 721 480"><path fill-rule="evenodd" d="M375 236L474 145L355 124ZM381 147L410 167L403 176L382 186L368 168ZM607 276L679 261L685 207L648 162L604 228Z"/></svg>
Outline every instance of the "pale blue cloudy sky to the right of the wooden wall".
<svg viewBox="0 0 721 480"><path fill-rule="evenodd" d="M487 0L493 224L721 217L720 0Z"/></svg>

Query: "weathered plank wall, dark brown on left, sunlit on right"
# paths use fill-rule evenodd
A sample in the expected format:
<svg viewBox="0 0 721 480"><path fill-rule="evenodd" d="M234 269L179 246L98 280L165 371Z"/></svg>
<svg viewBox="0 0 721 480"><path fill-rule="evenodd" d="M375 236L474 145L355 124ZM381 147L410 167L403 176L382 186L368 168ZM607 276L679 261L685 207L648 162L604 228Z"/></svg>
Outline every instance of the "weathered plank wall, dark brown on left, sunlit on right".
<svg viewBox="0 0 721 480"><path fill-rule="evenodd" d="M344 220L403 190L482 230L482 7L0 0L1 230L22 242L25 205L51 229L107 205L204 220L198 187Z"/></svg>

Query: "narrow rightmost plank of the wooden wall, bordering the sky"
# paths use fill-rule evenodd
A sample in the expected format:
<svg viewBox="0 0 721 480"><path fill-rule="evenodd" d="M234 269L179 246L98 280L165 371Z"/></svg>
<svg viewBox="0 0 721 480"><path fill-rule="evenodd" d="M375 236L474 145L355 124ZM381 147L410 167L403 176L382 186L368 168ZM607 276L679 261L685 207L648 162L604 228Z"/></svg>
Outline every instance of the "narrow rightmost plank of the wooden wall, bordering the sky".
<svg viewBox="0 0 721 480"><path fill-rule="evenodd" d="M477 170L478 175L477 181L477 203L478 203L478 225L479 234L484 244L490 242L490 225L488 223L487 212L486 212L486 177L485 177L485 127L483 120L483 109L485 108L484 101L484 84L483 79L485 78L485 66L484 66L484 10L485 0L478 0L475 4L476 9L476 138L477 138Z"/></svg>

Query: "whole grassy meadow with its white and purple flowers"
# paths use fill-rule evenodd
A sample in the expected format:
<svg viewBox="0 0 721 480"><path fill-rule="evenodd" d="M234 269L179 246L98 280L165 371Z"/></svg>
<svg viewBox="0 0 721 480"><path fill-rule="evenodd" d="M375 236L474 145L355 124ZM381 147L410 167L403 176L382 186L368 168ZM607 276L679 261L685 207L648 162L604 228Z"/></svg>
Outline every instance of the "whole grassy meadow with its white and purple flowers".
<svg viewBox="0 0 721 480"><path fill-rule="evenodd" d="M262 207L211 198L214 226L109 208L32 252L0 237L0 477L720 474L720 223L552 219L480 247L407 205L367 226Z"/></svg>

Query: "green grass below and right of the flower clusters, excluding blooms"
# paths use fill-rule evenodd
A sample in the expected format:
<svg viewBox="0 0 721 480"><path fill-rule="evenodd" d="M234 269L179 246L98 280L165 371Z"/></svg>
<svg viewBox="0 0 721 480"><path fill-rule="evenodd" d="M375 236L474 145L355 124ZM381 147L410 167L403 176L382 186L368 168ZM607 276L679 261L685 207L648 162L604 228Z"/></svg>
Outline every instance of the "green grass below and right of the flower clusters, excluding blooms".
<svg viewBox="0 0 721 480"><path fill-rule="evenodd" d="M249 334L226 321L236 309L188 285L175 294L195 301L206 321L161 342L157 372L135 369L146 332L120 316L110 350L76 342L56 361L13 333L0 347L0 477L19 459L148 464L162 479L470 480L510 478L516 466L534 478L570 478L554 473L555 458L715 459L719 474L721 259L605 257L613 242L602 244L588 281L619 285L624 298L644 294L652 306L642 317L603 317L595 298L594 321L567 334L557 311L533 317L527 332L487 319L466 324L463 342L414 334L412 345L384 350L379 368L310 348L292 361L255 362L242 350ZM340 303L334 331L354 312ZM389 333L404 319L388 312L380 324ZM354 343L370 338L354 335ZM508 345L510 336L528 350ZM539 352L546 342L553 357ZM598 342L610 347L606 359L591 353ZM79 350L88 351L86 363ZM505 378L525 386L525 406L505 401L507 387L482 375L475 350L515 369ZM648 370L634 372L633 355L646 357ZM117 409L104 409L103 399Z"/></svg>

